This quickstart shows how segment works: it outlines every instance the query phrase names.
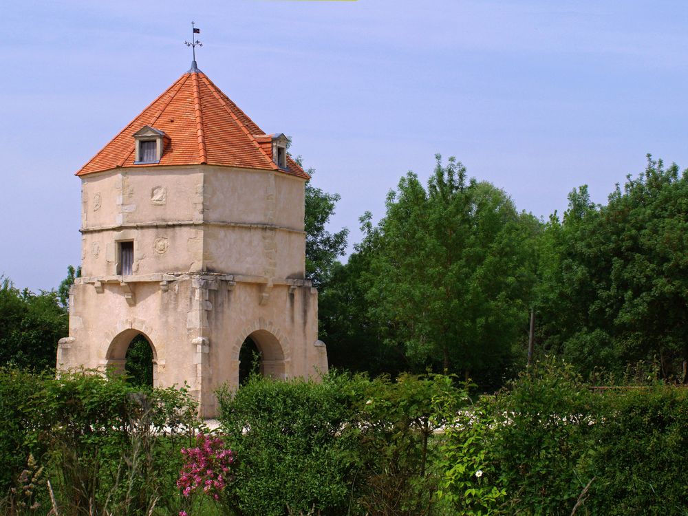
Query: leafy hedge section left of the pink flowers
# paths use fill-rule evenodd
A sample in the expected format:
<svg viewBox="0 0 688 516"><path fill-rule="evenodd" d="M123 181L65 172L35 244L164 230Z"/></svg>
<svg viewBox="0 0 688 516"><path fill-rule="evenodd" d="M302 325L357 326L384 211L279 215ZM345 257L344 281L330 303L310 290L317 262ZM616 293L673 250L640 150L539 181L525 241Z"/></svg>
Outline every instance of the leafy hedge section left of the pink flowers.
<svg viewBox="0 0 688 516"><path fill-rule="evenodd" d="M0 411L5 493L32 454L60 514L178 510L178 450L200 426L184 389L141 389L89 371L54 378L2 369Z"/></svg>

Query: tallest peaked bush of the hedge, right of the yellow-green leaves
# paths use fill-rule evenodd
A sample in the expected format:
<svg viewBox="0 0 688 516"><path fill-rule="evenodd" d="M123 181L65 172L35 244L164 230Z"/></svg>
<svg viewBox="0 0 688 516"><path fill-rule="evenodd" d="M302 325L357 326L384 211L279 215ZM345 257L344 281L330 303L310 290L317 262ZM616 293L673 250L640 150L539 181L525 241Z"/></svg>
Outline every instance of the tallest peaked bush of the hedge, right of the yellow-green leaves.
<svg viewBox="0 0 688 516"><path fill-rule="evenodd" d="M546 358L488 402L491 448L510 511L570 514L590 480L584 466L597 418L594 395L570 365Z"/></svg>

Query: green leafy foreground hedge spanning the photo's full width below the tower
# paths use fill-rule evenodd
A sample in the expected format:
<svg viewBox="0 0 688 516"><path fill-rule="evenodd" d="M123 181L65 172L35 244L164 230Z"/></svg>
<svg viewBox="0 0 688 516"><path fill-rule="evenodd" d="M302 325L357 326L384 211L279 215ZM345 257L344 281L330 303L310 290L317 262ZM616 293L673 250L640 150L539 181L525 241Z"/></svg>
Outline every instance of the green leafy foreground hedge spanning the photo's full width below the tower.
<svg viewBox="0 0 688 516"><path fill-rule="evenodd" d="M473 405L432 374L252 376L218 394L235 458L220 505L175 486L202 427L184 389L0 369L0 513L47 513L47 479L61 515L688 513L684 387L592 392L547 359Z"/></svg>

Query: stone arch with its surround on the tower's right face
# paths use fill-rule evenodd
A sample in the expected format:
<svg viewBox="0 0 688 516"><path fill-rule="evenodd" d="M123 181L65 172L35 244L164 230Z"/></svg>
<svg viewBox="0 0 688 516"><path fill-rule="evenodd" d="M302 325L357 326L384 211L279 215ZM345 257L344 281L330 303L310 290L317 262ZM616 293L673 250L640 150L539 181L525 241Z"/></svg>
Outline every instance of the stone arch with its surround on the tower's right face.
<svg viewBox="0 0 688 516"><path fill-rule="evenodd" d="M279 378L290 377L289 339L277 328L272 321L258 319L252 325L244 328L232 347L232 362L234 370L231 372L233 385L239 385L239 353L241 345L250 337L261 352L261 374Z"/></svg>

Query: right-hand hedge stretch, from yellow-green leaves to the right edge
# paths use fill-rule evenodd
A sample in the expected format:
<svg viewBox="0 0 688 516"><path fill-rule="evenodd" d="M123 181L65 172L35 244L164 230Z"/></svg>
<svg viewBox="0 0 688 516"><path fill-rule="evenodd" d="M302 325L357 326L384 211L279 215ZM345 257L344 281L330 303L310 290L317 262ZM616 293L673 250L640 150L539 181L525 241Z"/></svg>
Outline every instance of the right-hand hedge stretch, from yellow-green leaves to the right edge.
<svg viewBox="0 0 688 516"><path fill-rule="evenodd" d="M685 516L687 422L684 387L592 392L548 358L447 431L442 495L466 515Z"/></svg>

